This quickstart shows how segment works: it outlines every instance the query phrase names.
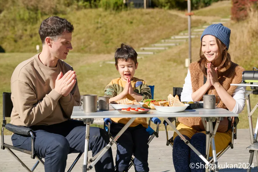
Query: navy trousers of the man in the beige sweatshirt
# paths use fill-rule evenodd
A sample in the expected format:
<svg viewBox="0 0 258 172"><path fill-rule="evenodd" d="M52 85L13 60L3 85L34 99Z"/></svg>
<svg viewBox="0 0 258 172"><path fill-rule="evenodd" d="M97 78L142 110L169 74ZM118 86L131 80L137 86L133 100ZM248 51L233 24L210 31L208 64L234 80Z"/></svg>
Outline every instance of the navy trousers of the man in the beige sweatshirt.
<svg viewBox="0 0 258 172"><path fill-rule="evenodd" d="M45 158L46 172L64 172L67 155L84 152L86 127L82 121L68 120L53 125L31 126L35 136L36 153ZM15 147L31 151L31 137L14 134L12 142ZM89 151L92 156L109 143L108 133L101 128L90 127ZM82 164L81 164L82 165ZM114 172L111 149L95 165L96 172Z"/></svg>

